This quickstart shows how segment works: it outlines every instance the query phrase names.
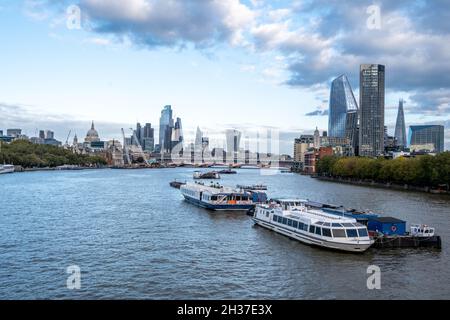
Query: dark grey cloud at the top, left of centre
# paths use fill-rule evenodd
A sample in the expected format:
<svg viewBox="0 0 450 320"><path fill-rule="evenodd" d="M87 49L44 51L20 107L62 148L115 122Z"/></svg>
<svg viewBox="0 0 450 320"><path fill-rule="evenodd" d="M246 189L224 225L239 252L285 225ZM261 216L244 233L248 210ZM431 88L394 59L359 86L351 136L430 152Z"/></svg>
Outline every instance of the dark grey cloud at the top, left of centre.
<svg viewBox="0 0 450 320"><path fill-rule="evenodd" d="M129 37L147 48L239 45L254 12L239 0L81 0L95 32Z"/></svg>

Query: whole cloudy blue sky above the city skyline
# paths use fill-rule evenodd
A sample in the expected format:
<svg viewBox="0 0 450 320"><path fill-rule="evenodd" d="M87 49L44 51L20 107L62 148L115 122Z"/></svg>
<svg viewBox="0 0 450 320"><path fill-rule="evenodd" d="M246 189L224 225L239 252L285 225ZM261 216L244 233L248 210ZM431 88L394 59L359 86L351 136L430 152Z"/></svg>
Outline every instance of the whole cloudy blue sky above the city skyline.
<svg viewBox="0 0 450 320"><path fill-rule="evenodd" d="M270 127L292 154L327 130L331 81L358 100L359 65L379 63L389 133L403 98L450 149L449 21L447 0L2 0L0 130L120 138L170 104L187 140Z"/></svg>

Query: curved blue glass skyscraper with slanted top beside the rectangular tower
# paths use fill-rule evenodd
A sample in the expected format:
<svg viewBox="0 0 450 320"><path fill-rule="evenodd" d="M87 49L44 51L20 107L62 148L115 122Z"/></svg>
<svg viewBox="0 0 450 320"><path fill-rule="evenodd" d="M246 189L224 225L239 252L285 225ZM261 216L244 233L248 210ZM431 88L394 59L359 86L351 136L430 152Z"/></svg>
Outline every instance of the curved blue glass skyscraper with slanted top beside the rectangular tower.
<svg viewBox="0 0 450 320"><path fill-rule="evenodd" d="M352 87L345 75L333 80L330 91L328 114L328 134L332 137L345 138L347 113L358 110ZM353 119L353 118L352 118ZM358 119L356 119L358 121ZM357 123L355 124L356 127Z"/></svg>

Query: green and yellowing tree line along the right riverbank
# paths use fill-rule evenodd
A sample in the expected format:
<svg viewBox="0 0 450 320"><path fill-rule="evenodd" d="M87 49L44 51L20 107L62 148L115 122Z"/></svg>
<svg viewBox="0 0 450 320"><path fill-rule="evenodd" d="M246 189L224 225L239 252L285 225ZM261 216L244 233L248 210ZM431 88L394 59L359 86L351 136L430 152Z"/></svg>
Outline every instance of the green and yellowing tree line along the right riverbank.
<svg viewBox="0 0 450 320"><path fill-rule="evenodd" d="M415 186L450 185L450 152L414 158L373 159L325 156L316 166L318 175L372 180Z"/></svg>

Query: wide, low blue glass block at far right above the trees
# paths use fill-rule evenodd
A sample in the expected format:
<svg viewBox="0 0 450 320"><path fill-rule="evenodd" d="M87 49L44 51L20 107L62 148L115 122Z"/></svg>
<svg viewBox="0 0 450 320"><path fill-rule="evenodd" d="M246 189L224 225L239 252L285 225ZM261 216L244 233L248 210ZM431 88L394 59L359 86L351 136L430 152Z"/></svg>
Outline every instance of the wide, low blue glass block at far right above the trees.
<svg viewBox="0 0 450 320"><path fill-rule="evenodd" d="M408 139L411 151L443 152L444 126L410 126Z"/></svg>

